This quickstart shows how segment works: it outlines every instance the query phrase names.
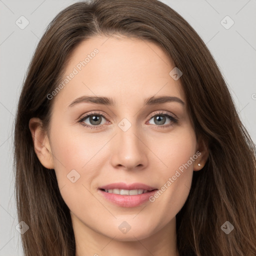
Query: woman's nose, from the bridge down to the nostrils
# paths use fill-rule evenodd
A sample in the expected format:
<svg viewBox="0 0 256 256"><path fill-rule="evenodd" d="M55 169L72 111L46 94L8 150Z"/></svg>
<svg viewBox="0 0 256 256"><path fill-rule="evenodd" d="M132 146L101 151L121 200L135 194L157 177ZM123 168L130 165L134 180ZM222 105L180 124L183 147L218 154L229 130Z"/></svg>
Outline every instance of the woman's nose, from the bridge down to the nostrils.
<svg viewBox="0 0 256 256"><path fill-rule="evenodd" d="M143 169L148 164L148 148L146 141L143 141L141 132L132 125L127 131L117 127L117 134L114 136L111 154L111 164L115 168L126 170Z"/></svg>

